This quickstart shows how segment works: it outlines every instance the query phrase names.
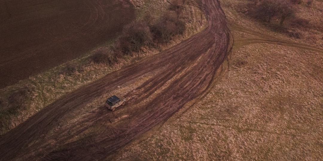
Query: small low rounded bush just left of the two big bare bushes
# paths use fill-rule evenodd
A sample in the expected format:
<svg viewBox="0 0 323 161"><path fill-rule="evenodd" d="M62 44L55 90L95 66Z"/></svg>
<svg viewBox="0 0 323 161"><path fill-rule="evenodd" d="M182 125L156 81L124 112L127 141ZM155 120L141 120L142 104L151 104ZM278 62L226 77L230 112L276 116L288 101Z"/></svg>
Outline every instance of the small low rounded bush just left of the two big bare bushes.
<svg viewBox="0 0 323 161"><path fill-rule="evenodd" d="M111 64L116 61L116 55L109 48L101 47L95 50L94 54L90 57L90 61L97 64Z"/></svg>

